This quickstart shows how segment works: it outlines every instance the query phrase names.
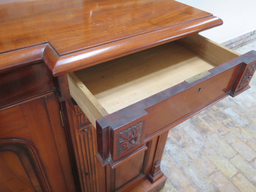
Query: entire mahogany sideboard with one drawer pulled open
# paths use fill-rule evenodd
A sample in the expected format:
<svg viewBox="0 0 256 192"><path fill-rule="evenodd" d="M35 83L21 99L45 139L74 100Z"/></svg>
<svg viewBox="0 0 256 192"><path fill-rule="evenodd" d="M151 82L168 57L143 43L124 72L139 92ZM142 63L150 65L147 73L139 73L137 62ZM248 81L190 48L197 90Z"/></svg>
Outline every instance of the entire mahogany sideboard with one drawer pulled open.
<svg viewBox="0 0 256 192"><path fill-rule="evenodd" d="M168 130L250 88L174 0L0 0L0 191L158 191Z"/></svg>

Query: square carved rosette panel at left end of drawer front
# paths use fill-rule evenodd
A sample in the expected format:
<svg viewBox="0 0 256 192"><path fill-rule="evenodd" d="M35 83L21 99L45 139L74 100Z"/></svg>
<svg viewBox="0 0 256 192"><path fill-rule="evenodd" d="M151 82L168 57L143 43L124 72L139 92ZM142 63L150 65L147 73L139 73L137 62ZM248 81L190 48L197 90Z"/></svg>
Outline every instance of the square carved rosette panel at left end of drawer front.
<svg viewBox="0 0 256 192"><path fill-rule="evenodd" d="M143 122L140 122L119 133L119 154L118 156L128 152L132 148L141 144Z"/></svg>

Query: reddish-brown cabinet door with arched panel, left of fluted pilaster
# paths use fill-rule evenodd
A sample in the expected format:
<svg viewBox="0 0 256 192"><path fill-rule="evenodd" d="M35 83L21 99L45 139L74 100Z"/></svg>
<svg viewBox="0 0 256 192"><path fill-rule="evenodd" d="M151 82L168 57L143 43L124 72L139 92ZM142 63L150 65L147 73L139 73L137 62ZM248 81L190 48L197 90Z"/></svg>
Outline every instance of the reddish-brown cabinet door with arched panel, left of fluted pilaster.
<svg viewBox="0 0 256 192"><path fill-rule="evenodd" d="M76 191L59 110L54 94L0 109L0 191Z"/></svg>

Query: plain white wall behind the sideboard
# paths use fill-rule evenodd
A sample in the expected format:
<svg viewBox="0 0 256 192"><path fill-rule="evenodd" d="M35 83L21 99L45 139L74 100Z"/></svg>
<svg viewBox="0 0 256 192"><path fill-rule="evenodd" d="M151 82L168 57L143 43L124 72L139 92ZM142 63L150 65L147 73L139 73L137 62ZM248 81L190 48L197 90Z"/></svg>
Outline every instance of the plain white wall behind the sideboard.
<svg viewBox="0 0 256 192"><path fill-rule="evenodd" d="M212 13L223 20L223 25L201 32L218 43L223 43L256 30L256 0L176 0Z"/></svg>

